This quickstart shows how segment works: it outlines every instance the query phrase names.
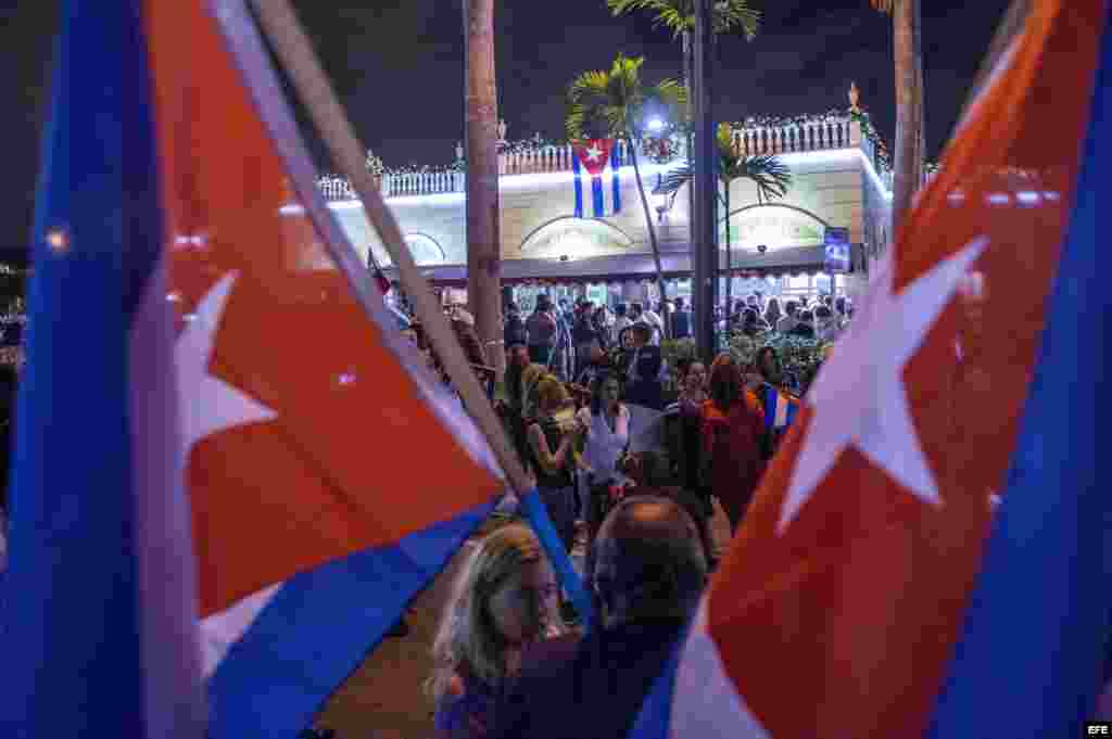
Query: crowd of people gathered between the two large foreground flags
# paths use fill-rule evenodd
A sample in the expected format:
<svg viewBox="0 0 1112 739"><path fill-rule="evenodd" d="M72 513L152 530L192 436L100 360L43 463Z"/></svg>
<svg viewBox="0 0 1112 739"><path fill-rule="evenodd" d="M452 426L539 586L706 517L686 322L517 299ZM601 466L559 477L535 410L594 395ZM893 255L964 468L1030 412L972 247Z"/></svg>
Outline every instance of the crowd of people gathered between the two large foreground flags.
<svg viewBox="0 0 1112 739"><path fill-rule="evenodd" d="M796 399L772 348L752 364L727 352L709 368L667 367L661 337L691 329L682 302L668 326L636 303L612 312L583 301L568 320L546 296L528 317L507 308L496 407L566 551L577 538L586 547L600 619L580 633L525 525L489 535L436 638L427 689L437 736L623 737L717 565L714 501L736 530L792 418L774 406ZM791 310L783 318L798 306ZM659 426L659 443L634 450L646 418Z"/></svg>

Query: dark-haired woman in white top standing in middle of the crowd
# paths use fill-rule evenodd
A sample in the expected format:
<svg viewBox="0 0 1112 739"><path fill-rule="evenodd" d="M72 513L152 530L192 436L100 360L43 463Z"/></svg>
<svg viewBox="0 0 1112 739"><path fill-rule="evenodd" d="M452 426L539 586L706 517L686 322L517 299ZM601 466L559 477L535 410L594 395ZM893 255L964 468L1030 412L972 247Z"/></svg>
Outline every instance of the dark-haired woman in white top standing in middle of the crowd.
<svg viewBox="0 0 1112 739"><path fill-rule="evenodd" d="M583 463L587 468L585 519L593 541L608 510L609 489L626 478L617 469L629 446L629 409L622 403L620 386L614 375L604 373L590 385L590 407L580 408L579 422L587 429Z"/></svg>

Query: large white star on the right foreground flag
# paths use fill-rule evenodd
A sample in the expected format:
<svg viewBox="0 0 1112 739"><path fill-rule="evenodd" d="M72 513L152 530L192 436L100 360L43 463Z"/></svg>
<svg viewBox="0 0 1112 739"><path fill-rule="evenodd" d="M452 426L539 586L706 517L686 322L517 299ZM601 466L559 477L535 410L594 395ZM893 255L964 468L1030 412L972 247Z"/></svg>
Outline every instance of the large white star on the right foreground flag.
<svg viewBox="0 0 1112 739"><path fill-rule="evenodd" d="M784 498L781 533L850 445L912 495L941 505L912 421L903 369L986 244L985 238L972 241L898 294L892 291L894 270L873 288L807 393L813 416Z"/></svg>

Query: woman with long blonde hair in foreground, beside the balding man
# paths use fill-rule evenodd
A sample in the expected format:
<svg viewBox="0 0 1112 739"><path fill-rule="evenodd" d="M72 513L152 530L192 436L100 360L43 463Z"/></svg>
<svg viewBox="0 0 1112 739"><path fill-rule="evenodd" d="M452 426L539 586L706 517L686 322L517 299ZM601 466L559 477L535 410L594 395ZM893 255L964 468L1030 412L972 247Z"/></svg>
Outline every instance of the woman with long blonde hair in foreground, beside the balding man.
<svg viewBox="0 0 1112 739"><path fill-rule="evenodd" d="M528 645L559 632L556 578L526 526L490 533L456 579L425 683L437 739L481 739Z"/></svg>

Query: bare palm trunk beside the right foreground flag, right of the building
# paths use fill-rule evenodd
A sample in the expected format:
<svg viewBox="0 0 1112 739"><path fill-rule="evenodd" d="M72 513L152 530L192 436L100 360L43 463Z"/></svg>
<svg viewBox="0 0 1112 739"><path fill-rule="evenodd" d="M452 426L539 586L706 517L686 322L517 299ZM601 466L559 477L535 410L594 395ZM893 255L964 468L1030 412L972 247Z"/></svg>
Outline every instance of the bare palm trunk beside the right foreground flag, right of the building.
<svg viewBox="0 0 1112 739"><path fill-rule="evenodd" d="M896 79L896 152L892 226L900 224L923 180L923 53L920 0L896 0L892 12Z"/></svg>

